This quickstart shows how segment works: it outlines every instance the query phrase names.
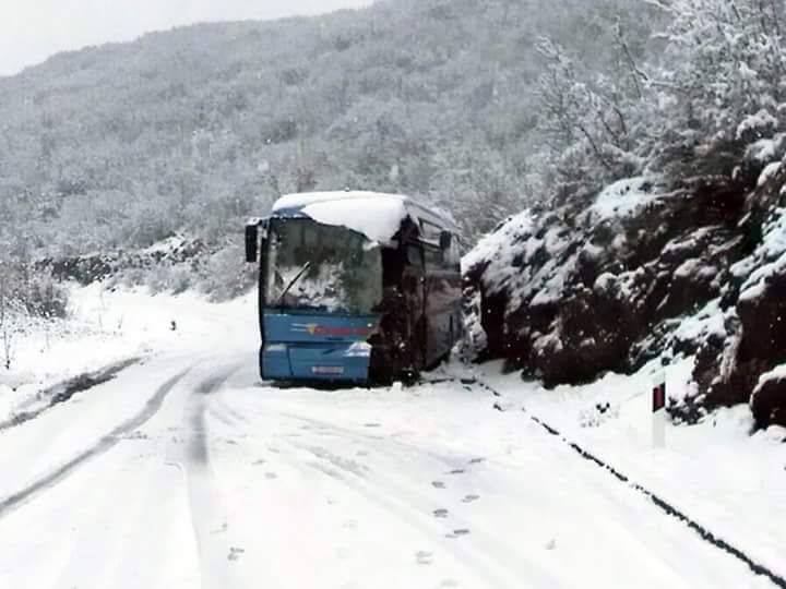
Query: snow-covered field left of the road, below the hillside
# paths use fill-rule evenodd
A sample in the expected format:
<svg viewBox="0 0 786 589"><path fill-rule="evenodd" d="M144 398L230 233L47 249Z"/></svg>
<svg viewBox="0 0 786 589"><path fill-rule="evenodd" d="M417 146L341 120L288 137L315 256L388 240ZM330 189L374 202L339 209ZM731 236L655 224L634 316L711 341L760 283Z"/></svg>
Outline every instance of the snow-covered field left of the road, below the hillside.
<svg viewBox="0 0 786 589"><path fill-rule="evenodd" d="M191 292L151 296L144 288L108 291L96 284L72 288L70 301L68 321L31 324L14 340L11 370L0 370L0 423L36 400L46 402L41 392L74 376L156 351L199 349L225 310L243 313L255 297L212 304Z"/></svg>

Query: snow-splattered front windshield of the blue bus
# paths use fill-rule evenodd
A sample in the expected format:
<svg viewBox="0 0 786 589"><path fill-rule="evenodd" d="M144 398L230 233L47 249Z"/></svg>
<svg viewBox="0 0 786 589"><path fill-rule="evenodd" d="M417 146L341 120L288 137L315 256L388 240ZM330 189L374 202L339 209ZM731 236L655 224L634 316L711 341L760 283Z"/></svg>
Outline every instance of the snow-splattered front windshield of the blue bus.
<svg viewBox="0 0 786 589"><path fill-rule="evenodd" d="M368 314L382 300L379 245L310 219L272 220L266 277L269 306Z"/></svg>

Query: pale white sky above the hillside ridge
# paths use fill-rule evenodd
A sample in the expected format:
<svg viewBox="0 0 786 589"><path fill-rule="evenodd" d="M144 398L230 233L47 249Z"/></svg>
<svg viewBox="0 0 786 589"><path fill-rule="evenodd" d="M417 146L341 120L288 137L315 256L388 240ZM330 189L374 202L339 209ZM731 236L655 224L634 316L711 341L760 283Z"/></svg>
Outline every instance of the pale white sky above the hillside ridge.
<svg viewBox="0 0 786 589"><path fill-rule="evenodd" d="M371 0L0 0L0 75L64 50L209 21L277 19Z"/></svg>

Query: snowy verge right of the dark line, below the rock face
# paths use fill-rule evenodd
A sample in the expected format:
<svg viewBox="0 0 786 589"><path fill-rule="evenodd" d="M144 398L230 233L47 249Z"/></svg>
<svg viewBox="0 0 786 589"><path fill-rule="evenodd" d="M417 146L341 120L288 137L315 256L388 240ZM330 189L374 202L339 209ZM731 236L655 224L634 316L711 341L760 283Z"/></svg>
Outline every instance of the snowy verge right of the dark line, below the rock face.
<svg viewBox="0 0 786 589"><path fill-rule="evenodd" d="M689 386L692 359L666 369L668 396ZM546 390L486 368L507 410L524 409L564 438L602 457L759 564L786 576L786 429L751 435L746 406L722 409L693 426L667 425L653 436L652 394L659 364L633 376L608 374L587 386Z"/></svg>

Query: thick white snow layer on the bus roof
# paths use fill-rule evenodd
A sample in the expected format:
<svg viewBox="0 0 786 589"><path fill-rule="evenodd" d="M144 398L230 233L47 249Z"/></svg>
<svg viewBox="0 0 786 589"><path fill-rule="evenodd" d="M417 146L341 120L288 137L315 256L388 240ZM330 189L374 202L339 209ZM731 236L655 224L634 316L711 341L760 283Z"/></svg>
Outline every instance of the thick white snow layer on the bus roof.
<svg viewBox="0 0 786 589"><path fill-rule="evenodd" d="M273 205L273 214L305 215L323 225L347 227L371 241L390 243L401 223L412 217L439 227L453 229L436 213L422 207L409 196L381 192L307 192L287 194Z"/></svg>

